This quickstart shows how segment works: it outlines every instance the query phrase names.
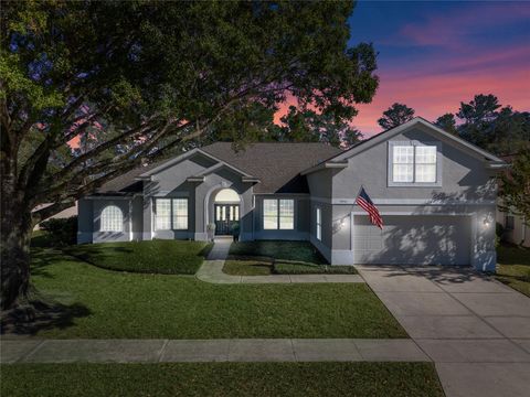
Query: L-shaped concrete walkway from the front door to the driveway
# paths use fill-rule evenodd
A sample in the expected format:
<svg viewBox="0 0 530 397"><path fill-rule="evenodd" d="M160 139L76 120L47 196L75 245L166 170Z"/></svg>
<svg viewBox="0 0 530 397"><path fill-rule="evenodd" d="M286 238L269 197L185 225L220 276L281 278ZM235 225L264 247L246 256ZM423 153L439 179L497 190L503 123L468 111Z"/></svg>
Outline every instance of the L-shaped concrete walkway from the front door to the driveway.
<svg viewBox="0 0 530 397"><path fill-rule="evenodd" d="M231 276L223 272L232 238L215 238L206 260L197 272L201 281L212 283L301 283L301 282L364 282L359 275L273 275Z"/></svg>

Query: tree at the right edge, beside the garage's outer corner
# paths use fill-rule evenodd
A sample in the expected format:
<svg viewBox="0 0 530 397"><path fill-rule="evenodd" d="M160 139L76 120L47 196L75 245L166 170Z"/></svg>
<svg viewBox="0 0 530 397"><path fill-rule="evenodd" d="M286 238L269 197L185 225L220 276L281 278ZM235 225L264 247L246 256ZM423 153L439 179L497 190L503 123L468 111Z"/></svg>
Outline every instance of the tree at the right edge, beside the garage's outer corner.
<svg viewBox="0 0 530 397"><path fill-rule="evenodd" d="M530 225L530 146L513 155L511 168L502 174L499 210L523 216Z"/></svg>

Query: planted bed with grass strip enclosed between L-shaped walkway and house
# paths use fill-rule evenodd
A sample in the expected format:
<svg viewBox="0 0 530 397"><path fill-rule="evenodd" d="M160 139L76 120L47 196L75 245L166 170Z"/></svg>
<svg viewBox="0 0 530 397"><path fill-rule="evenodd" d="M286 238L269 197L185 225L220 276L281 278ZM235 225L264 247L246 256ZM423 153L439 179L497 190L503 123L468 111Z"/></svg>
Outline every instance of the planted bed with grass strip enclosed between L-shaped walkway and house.
<svg viewBox="0 0 530 397"><path fill-rule="evenodd" d="M354 275L352 266L330 266L309 242L234 243L223 271L233 276Z"/></svg>

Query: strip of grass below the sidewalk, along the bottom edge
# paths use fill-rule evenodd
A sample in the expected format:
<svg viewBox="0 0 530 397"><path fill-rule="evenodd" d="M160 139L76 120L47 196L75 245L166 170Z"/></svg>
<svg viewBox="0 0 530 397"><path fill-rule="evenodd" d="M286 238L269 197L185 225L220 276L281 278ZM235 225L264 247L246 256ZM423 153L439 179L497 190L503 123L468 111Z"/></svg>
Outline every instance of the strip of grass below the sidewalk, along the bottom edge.
<svg viewBox="0 0 530 397"><path fill-rule="evenodd" d="M1 395L443 397L431 363L2 365Z"/></svg>

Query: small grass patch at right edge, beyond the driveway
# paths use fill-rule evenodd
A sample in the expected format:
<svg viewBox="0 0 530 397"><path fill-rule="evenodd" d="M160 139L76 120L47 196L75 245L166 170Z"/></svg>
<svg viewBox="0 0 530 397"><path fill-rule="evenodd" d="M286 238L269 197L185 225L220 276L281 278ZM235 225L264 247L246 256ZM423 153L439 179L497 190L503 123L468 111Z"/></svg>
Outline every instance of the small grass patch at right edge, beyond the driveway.
<svg viewBox="0 0 530 397"><path fill-rule="evenodd" d="M530 297L530 249L501 245L497 255L497 279Z"/></svg>

